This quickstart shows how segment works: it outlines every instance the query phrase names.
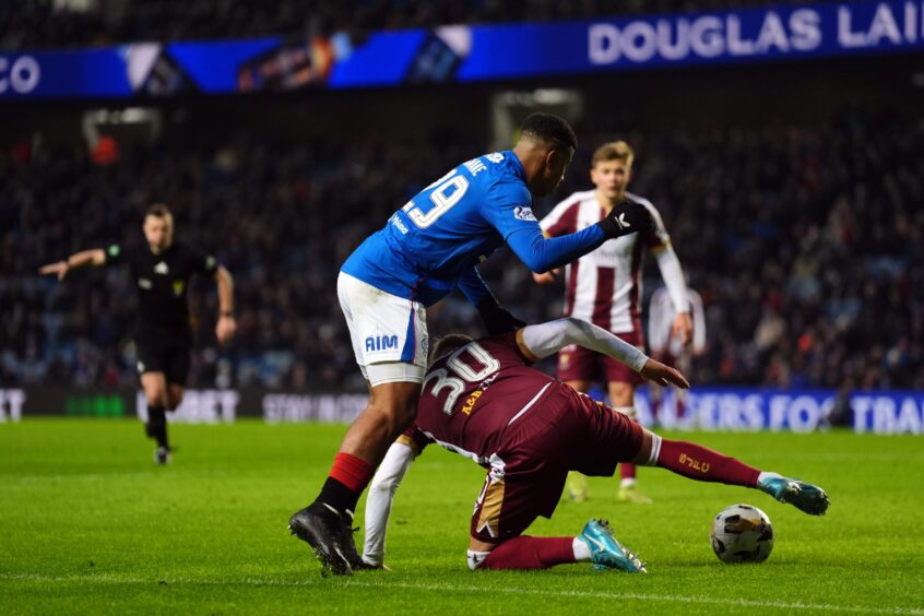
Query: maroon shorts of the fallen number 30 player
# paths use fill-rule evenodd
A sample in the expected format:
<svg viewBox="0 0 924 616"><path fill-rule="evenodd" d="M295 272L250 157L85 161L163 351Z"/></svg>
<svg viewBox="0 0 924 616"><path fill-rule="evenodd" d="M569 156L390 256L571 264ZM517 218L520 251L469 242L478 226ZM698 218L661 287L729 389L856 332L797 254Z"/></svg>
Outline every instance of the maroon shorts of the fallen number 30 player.
<svg viewBox="0 0 924 616"><path fill-rule="evenodd" d="M612 476L641 449L642 427L565 384L504 431L475 504L471 534L486 543L518 536L550 518L568 471Z"/></svg>

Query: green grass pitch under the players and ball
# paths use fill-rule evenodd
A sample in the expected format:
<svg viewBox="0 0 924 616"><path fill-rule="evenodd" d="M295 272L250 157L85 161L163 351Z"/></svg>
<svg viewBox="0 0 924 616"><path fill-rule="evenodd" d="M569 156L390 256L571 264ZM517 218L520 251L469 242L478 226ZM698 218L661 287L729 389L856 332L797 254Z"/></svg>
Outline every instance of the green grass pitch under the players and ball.
<svg viewBox="0 0 924 616"><path fill-rule="evenodd" d="M588 612L924 614L924 441L848 433L697 434L759 467L817 482L813 518L745 488L641 469L654 505L562 501L535 535L573 535L607 517L648 576L588 564L470 572L467 526L483 471L431 448L392 513L392 572L328 578L288 535L333 459L343 426L174 426L174 463L155 467L129 420L0 425L0 605L31 613ZM762 565L728 566L709 545L720 509L749 502L773 522ZM360 508L362 509L362 508ZM362 512L357 518L362 520Z"/></svg>

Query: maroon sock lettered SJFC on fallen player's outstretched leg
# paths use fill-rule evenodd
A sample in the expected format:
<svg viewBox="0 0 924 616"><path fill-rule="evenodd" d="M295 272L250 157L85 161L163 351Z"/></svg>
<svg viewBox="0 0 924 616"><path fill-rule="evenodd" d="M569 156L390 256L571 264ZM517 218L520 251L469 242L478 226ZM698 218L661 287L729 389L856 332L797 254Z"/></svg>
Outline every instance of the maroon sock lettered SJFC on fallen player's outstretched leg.
<svg viewBox="0 0 924 616"><path fill-rule="evenodd" d="M658 465L700 482L754 487L760 471L695 442L661 439Z"/></svg>

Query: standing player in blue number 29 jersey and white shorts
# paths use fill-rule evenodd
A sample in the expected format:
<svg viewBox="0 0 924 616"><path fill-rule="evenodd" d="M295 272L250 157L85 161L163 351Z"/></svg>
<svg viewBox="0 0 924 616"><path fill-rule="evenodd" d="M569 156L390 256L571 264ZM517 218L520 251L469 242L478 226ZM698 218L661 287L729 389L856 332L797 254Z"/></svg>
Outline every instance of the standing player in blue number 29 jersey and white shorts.
<svg viewBox="0 0 924 616"><path fill-rule="evenodd" d="M395 212L343 264L337 295L369 403L344 436L315 502L289 520L325 569L348 574L362 566L353 511L389 446L416 415L427 362L427 307L458 286L489 333L512 331L523 323L497 304L476 269L494 250L506 242L531 270L545 272L606 239L651 228L643 205L625 203L581 232L543 237L533 196L555 190L576 147L565 120L533 114L512 151L452 169Z"/></svg>

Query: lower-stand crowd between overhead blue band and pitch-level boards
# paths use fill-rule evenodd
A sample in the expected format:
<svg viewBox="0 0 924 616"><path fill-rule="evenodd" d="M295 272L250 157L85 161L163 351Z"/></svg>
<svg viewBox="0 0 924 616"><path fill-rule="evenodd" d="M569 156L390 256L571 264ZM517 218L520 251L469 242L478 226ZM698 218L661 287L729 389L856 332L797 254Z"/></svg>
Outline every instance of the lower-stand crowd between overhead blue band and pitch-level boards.
<svg viewBox="0 0 924 616"><path fill-rule="evenodd" d="M633 143L630 189L661 210L706 305L709 348L694 382L924 388L924 125L846 112L812 128L623 128L581 127L556 197L587 189L595 144ZM0 382L134 386L127 272L72 272L58 284L36 269L141 241L141 213L166 201L178 237L212 250L236 281L229 348L212 334L211 281L192 294L191 384L363 391L335 295L339 265L410 196L483 149L442 133L348 146L163 141L106 165L34 143L3 152ZM508 249L483 272L525 320L560 313L560 289L534 285ZM431 334L482 331L461 294L430 315Z"/></svg>

